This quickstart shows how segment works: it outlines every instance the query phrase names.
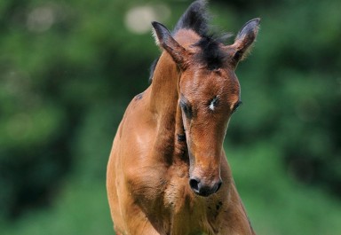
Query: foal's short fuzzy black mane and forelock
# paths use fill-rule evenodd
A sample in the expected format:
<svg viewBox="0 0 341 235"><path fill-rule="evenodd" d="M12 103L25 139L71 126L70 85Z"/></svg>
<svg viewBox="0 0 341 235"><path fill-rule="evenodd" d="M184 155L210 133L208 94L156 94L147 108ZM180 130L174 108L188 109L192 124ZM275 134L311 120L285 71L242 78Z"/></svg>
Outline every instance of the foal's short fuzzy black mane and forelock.
<svg viewBox="0 0 341 235"><path fill-rule="evenodd" d="M180 29L193 30L196 34L200 35L202 38L194 43L194 46L202 49L197 55L196 60L207 66L208 69L213 70L222 67L226 59L226 53L219 49L219 44L223 43L231 34L222 36L209 35L210 15L206 9L206 3L206 0L197 0L190 4L186 12L178 20L172 35L176 35ZM155 59L150 67L149 82L153 80L157 62L158 59Z"/></svg>

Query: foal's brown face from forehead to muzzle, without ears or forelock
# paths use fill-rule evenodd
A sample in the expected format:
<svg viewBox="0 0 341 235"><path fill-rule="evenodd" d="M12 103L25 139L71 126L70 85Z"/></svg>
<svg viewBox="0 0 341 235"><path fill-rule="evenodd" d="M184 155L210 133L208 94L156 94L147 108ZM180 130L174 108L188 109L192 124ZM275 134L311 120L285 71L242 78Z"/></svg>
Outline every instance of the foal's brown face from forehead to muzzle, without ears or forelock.
<svg viewBox="0 0 341 235"><path fill-rule="evenodd" d="M240 86L233 70L196 67L182 74L178 105L190 160L189 184L201 196L217 192L222 184L223 141L231 114L240 104Z"/></svg>

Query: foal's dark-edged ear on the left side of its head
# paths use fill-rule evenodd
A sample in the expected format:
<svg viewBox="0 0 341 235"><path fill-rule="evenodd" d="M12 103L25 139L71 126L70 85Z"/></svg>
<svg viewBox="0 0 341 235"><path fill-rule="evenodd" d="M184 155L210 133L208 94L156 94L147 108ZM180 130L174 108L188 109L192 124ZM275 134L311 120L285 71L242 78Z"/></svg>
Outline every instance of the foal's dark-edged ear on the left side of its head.
<svg viewBox="0 0 341 235"><path fill-rule="evenodd" d="M186 68L186 60L188 57L188 52L183 48L175 39L171 36L170 31L167 27L163 26L158 22L152 22L154 27L153 35L155 36L155 42L158 46L162 47L178 64L181 69Z"/></svg>

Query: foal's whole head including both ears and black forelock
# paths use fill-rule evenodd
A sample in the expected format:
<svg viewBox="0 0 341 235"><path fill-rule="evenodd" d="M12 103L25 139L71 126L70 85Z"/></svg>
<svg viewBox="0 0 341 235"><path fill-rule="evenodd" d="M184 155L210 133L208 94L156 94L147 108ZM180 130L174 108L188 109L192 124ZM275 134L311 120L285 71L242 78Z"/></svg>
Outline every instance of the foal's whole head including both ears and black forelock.
<svg viewBox="0 0 341 235"><path fill-rule="evenodd" d="M234 69L258 34L259 19L247 22L232 45L210 37L183 47L162 24L153 22L156 43L180 69L178 106L181 107L190 160L189 184L201 196L222 184L220 158L227 124L241 104Z"/></svg>

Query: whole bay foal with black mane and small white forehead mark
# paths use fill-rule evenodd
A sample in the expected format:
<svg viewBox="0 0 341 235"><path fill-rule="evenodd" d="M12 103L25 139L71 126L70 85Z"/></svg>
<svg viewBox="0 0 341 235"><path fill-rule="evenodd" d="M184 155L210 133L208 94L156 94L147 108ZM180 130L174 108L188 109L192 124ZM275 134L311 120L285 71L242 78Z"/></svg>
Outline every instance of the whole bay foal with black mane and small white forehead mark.
<svg viewBox="0 0 341 235"><path fill-rule="evenodd" d="M116 234L255 234L223 141L241 104L234 70L258 34L250 20L231 45L208 35L204 1L173 33L153 22L163 49L152 83L131 101L107 165Z"/></svg>

